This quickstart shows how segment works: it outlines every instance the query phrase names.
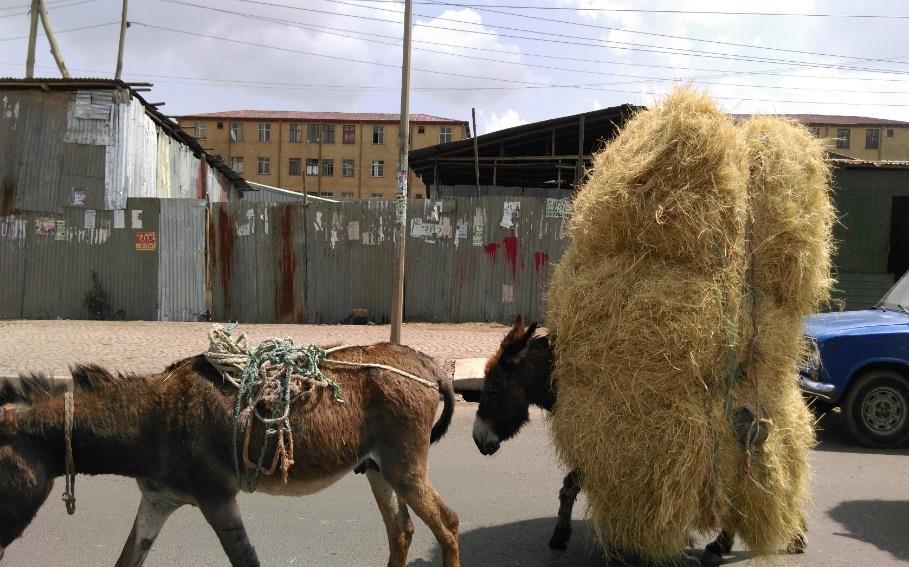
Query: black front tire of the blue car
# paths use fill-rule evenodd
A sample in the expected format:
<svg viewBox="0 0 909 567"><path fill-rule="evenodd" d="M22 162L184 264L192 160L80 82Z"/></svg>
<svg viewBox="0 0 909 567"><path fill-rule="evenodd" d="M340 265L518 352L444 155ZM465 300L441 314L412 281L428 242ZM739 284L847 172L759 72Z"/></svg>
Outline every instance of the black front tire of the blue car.
<svg viewBox="0 0 909 567"><path fill-rule="evenodd" d="M843 405L846 427L866 447L895 449L909 442L909 380L892 370L859 376Z"/></svg>

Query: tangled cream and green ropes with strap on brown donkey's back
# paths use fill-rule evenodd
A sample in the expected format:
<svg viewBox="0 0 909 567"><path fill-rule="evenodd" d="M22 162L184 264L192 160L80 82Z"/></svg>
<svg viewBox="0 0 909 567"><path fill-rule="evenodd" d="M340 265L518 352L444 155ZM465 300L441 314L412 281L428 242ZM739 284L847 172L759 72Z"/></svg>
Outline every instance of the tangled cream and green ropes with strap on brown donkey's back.
<svg viewBox="0 0 909 567"><path fill-rule="evenodd" d="M290 408L293 402L309 395L308 385L316 383L327 386L331 388L335 401L346 403L341 386L322 374L320 365L387 370L438 389L435 382L392 366L326 358L329 353L347 348L343 346L326 350L316 345L297 346L291 339L271 338L250 348L246 335L240 334L236 339L231 336L236 327L236 323L227 327L216 325L209 332L209 349L205 352L205 358L238 390L233 416L234 471L240 487L247 492L255 491L259 476L274 474L279 464L281 477L287 483L288 471L294 464ZM263 416L259 412L260 405L266 410L270 409L269 416ZM262 449L256 461L249 458L253 417L265 426ZM242 456L244 474L241 474L238 455L241 426L245 430ZM277 438L275 455L269 467L265 468L265 455L272 437Z"/></svg>

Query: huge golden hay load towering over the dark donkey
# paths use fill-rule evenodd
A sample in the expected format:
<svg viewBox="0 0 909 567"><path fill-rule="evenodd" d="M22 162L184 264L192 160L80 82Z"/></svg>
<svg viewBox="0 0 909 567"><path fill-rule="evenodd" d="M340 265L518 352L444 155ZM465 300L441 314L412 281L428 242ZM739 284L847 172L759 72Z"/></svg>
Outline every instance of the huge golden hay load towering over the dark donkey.
<svg viewBox="0 0 909 567"><path fill-rule="evenodd" d="M813 430L794 372L829 285L827 170L804 129L743 130L686 90L630 120L548 293L556 447L600 539L656 560L720 521L760 553L800 524Z"/></svg>

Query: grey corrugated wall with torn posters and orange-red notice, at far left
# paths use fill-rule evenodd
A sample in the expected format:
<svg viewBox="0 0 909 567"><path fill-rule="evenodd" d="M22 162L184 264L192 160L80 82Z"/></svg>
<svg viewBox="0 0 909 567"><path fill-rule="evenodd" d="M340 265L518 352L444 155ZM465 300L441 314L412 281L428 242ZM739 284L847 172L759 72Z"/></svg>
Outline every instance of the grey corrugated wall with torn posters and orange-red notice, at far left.
<svg viewBox="0 0 909 567"><path fill-rule="evenodd" d="M130 199L125 211L67 208L0 220L0 318L91 318L92 272L110 317L199 320L204 201Z"/></svg>

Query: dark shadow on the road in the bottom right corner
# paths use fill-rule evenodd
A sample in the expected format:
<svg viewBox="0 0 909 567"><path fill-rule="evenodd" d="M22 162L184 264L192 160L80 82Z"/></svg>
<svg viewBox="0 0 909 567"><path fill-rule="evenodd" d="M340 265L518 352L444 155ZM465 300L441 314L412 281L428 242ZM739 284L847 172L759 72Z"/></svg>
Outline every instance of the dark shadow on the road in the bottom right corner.
<svg viewBox="0 0 909 567"><path fill-rule="evenodd" d="M848 500L827 512L848 530L834 535L857 539L909 562L909 501Z"/></svg>

